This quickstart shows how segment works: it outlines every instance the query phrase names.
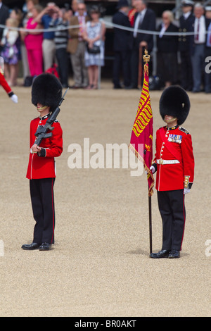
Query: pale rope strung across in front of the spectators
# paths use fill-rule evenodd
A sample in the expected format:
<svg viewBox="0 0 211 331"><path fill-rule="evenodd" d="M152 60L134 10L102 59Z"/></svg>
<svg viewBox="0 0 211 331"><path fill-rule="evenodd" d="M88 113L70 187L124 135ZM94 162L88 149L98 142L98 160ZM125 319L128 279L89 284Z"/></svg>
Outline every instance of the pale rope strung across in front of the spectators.
<svg viewBox="0 0 211 331"><path fill-rule="evenodd" d="M122 25L117 25L114 23L108 22L108 20L101 20L107 27L116 27L117 29L126 30L130 32L134 32L134 27L124 27ZM48 29L26 29L25 27L9 27L10 30L16 30L20 32L32 32L33 30L36 30L36 32L56 32L56 31L63 31L63 30L70 30L78 28L79 25L68 25L67 27L49 27ZM0 29L5 29L8 27L6 25L0 24ZM138 33L143 33L146 35L160 35L159 31L148 31L148 30L137 30ZM205 34L209 33L210 31L205 31ZM167 36L192 36L196 35L196 32L164 32L163 35Z"/></svg>

